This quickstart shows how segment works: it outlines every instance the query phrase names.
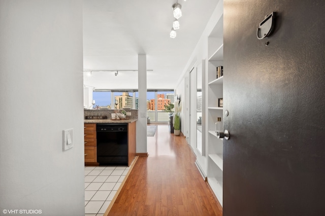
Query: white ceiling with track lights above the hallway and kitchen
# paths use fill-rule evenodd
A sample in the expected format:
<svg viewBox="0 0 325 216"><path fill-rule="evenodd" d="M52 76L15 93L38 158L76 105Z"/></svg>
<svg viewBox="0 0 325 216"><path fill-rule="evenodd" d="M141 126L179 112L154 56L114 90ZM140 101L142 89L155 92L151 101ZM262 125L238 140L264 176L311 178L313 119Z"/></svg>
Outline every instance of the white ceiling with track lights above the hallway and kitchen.
<svg viewBox="0 0 325 216"><path fill-rule="evenodd" d="M176 0L84 0L84 70L137 70L147 56L147 89L174 89L218 0L179 0L177 37L171 39ZM86 73L84 73L85 75ZM84 84L96 89L137 89L136 71L93 71Z"/></svg>

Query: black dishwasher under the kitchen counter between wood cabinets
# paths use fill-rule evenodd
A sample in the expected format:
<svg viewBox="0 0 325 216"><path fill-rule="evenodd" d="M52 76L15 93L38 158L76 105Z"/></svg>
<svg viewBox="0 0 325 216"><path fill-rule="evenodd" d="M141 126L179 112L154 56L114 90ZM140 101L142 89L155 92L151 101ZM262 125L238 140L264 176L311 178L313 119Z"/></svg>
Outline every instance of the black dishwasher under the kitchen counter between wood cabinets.
<svg viewBox="0 0 325 216"><path fill-rule="evenodd" d="M97 124L97 162L127 166L127 124Z"/></svg>

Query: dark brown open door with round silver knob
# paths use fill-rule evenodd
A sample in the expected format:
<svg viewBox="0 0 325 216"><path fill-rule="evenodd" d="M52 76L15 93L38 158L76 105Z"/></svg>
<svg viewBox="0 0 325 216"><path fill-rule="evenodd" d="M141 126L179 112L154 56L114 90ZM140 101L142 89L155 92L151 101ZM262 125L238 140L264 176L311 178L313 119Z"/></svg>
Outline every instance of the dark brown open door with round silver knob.
<svg viewBox="0 0 325 216"><path fill-rule="evenodd" d="M224 0L223 88L223 215L325 215L325 2Z"/></svg>

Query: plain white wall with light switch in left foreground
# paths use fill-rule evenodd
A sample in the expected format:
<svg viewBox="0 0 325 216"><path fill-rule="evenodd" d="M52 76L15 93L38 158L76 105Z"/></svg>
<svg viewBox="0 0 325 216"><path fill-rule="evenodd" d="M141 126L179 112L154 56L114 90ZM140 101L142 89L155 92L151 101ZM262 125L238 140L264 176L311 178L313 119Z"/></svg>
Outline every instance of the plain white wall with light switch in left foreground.
<svg viewBox="0 0 325 216"><path fill-rule="evenodd" d="M82 1L1 0L0 29L0 214L84 215Z"/></svg>

